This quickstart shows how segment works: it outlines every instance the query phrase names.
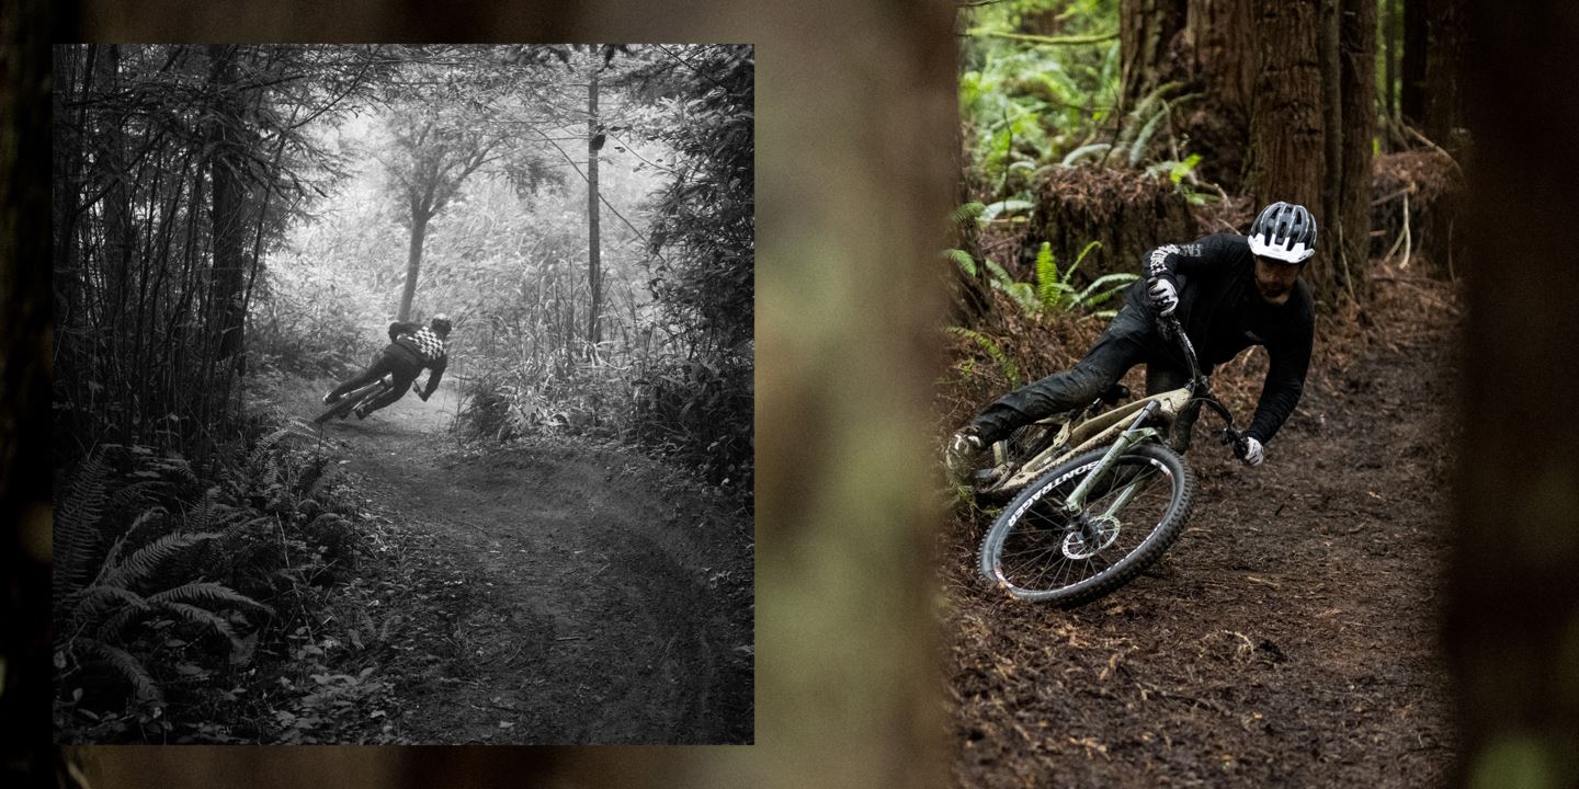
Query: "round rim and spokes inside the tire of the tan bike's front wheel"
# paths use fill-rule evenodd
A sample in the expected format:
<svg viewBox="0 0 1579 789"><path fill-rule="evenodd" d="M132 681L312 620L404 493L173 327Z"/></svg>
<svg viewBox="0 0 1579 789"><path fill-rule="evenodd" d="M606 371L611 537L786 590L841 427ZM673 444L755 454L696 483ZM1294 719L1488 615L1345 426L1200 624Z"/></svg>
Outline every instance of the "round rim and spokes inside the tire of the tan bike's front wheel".
<svg viewBox="0 0 1579 789"><path fill-rule="evenodd" d="M1097 462L1071 470L1020 505L993 565L993 576L1011 593L1053 592L1102 576L1165 521L1178 481L1162 461L1142 454L1121 456L1112 470L1120 481L1099 483L1086 495L1085 511L1071 516L1064 500ZM1129 483L1138 483L1135 495L1121 511L1108 513ZM1082 518L1094 540L1080 533Z"/></svg>

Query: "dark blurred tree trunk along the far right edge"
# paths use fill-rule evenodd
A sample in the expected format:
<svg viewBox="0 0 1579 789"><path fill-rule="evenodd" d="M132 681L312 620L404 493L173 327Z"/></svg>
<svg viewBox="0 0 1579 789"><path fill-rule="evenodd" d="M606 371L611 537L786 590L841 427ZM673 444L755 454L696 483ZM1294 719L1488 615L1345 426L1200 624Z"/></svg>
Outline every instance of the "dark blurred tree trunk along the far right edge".
<svg viewBox="0 0 1579 789"><path fill-rule="evenodd" d="M1579 6L1470 6L1475 166L1446 645L1454 786L1579 786ZM1552 409L1555 406L1555 410ZM1487 533L1497 549L1478 551Z"/></svg>

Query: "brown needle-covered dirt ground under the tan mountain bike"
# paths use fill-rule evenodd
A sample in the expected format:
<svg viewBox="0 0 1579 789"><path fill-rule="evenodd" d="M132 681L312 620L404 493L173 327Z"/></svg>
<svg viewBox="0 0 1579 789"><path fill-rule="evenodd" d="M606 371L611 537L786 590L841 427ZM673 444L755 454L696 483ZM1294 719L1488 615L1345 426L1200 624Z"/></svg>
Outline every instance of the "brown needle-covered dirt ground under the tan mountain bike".
<svg viewBox="0 0 1579 789"><path fill-rule="evenodd" d="M1415 306L1318 350L1265 466L1197 426L1194 516L1113 595L1060 611L995 593L974 571L990 519L957 524L954 786L1446 783L1457 309L1440 284L1378 287Z"/></svg>

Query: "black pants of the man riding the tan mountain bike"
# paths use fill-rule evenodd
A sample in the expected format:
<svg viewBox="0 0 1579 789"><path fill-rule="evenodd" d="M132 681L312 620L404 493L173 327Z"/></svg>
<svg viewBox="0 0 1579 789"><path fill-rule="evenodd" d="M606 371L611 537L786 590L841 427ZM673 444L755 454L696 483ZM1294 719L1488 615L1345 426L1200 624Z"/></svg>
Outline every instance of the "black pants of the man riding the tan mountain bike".
<svg viewBox="0 0 1579 789"><path fill-rule="evenodd" d="M985 443L993 443L1023 424L1090 406L1140 363L1146 365L1146 394L1189 383L1183 357L1156 328L1151 311L1126 301L1075 366L998 398L971 424ZM1180 450L1189 445L1195 415L1195 409L1187 409L1176 424L1175 443Z"/></svg>

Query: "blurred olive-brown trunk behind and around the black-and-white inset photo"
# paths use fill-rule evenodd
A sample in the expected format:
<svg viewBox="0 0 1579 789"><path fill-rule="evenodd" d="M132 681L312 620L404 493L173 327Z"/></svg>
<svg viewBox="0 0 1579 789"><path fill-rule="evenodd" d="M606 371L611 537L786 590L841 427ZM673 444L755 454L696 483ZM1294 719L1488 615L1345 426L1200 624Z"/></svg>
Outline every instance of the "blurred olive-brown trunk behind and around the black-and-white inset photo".
<svg viewBox="0 0 1579 789"><path fill-rule="evenodd" d="M85 3L76 24L123 27L82 33L221 39L207 25L245 17L257 39L756 44L761 606L752 748L87 748L96 787L946 783L927 413L955 175L952 5L458 2L403 19L377 2L253 3L251 14L175 2L98 13L111 5Z"/></svg>

